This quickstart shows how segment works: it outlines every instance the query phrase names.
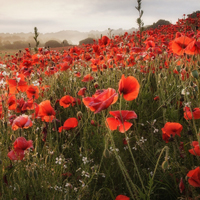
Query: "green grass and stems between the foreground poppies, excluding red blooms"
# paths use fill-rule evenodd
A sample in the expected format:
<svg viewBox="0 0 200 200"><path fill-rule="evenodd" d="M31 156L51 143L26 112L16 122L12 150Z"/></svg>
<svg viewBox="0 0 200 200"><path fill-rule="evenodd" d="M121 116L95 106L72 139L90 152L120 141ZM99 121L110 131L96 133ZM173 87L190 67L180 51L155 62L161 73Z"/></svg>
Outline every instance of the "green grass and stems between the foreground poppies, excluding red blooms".
<svg viewBox="0 0 200 200"><path fill-rule="evenodd" d="M196 59L199 60L199 56ZM49 77L41 72L42 84L50 85L50 89L36 102L50 100L56 110L57 121L45 123L35 119L32 127L16 131L8 124L7 114L0 121L1 199L107 200L124 194L131 199L173 200L197 196L199 188L190 186L185 177L189 170L199 165L199 158L188 150L191 149L191 141L197 140L200 122L185 120L183 107L179 107L177 101L182 97L181 91L187 88L190 94L184 96L183 103L190 101L193 108L199 107L199 79L190 75L182 81L181 75L173 72L176 68L174 61L168 61L169 68L162 69L159 69L160 62L159 58L150 61L150 68L154 66L156 70L150 69L149 73L140 72L140 67L145 65L143 61L133 67L108 68L103 72L92 72L89 66L85 68L78 62L72 71ZM190 72L192 67L188 67ZM199 67L195 65L197 70ZM91 73L95 81L83 83L82 78L74 77L74 71L80 71L82 77ZM94 82L98 82L99 89L111 87L118 91L122 74L134 76L140 83L137 99L128 102L122 98L120 103L119 97L115 104L98 114L88 110L83 103L68 108L56 103L67 94L81 99L77 92L84 86L87 87L86 96L92 96L96 91ZM34 73L30 82L37 78L37 73ZM196 83L197 91L192 83ZM5 91L1 89L3 93ZM155 96L160 99L154 101ZM18 94L20 97L22 93ZM7 105L4 106L6 109ZM125 134L110 131L105 124L109 111L120 107L122 110L134 110L138 116L129 120L133 126ZM31 111L26 114L31 114ZM57 131L66 119L77 115L81 116L78 127L61 133ZM93 126L91 120L95 120L97 126ZM182 124L181 137L175 136L174 141L165 143L161 128L166 122ZM42 140L45 127L46 142ZM188 130L193 134L188 135ZM27 151L24 160L13 162L7 153L19 136L32 140L34 150ZM123 144L123 139L128 140L128 145ZM180 157L180 142L184 144L183 158ZM162 163L166 158L169 165L163 169ZM186 187L183 194L178 185L181 177Z"/></svg>

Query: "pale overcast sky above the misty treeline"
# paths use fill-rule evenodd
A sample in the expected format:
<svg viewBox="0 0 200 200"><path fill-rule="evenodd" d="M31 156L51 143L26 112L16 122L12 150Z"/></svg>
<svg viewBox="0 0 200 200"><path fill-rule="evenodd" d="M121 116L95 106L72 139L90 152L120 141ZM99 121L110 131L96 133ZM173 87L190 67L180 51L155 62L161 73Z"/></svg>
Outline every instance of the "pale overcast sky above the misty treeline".
<svg viewBox="0 0 200 200"><path fill-rule="evenodd" d="M0 32L137 28L137 0L1 0ZM200 9L200 0L142 0L144 25L159 19L175 23Z"/></svg>

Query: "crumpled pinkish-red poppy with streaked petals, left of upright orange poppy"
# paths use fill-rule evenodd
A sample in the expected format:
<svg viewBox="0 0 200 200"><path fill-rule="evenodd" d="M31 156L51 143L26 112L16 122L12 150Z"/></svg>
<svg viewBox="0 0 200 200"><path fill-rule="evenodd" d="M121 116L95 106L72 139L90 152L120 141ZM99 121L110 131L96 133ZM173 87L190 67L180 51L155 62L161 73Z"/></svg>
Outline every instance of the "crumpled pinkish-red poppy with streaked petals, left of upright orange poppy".
<svg viewBox="0 0 200 200"><path fill-rule="evenodd" d="M118 99L115 89L97 90L92 97L83 98L83 103L94 113L99 113L114 104Z"/></svg>

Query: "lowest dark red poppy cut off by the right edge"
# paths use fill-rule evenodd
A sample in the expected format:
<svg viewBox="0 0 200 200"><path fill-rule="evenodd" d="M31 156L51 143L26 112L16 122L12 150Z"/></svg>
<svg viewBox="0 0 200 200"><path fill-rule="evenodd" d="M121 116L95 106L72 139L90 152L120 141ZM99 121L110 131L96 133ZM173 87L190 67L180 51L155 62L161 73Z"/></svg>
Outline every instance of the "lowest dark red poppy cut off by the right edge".
<svg viewBox="0 0 200 200"><path fill-rule="evenodd" d="M190 170L187 174L189 177L188 182L190 185L194 187L200 187L200 168L197 167L196 169Z"/></svg>

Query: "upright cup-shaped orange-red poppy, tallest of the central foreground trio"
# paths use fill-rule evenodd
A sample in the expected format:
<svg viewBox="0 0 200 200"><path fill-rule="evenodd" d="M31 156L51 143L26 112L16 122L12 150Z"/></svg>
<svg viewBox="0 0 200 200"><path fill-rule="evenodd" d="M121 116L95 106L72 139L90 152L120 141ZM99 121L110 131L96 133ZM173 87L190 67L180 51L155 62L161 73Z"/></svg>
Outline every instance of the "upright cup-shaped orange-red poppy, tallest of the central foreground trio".
<svg viewBox="0 0 200 200"><path fill-rule="evenodd" d="M124 77L124 74L119 81L119 94L123 94L126 101L132 101L137 98L140 90L140 84L133 76Z"/></svg>

